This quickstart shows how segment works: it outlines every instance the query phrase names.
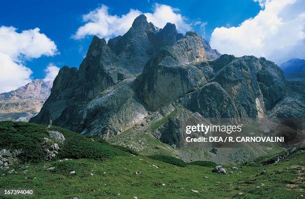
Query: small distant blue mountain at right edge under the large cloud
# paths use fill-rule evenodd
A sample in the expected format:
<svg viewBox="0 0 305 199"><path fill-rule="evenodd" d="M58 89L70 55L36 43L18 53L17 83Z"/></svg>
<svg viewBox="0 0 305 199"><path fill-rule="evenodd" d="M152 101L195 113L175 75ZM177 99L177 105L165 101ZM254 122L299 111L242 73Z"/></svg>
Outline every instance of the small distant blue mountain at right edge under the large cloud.
<svg viewBox="0 0 305 199"><path fill-rule="evenodd" d="M305 77L305 60L304 59L291 59L280 65L284 71L285 76L289 78L304 78Z"/></svg>

